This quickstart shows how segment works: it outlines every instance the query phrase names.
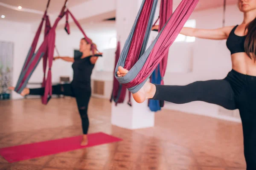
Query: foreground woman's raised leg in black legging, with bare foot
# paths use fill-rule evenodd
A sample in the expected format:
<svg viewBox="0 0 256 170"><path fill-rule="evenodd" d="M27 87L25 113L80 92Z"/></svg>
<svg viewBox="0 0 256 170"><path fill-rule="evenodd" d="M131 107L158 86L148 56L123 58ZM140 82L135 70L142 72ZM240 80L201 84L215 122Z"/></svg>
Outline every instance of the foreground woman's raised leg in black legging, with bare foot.
<svg viewBox="0 0 256 170"><path fill-rule="evenodd" d="M128 71L119 67L118 77L125 76ZM193 101L204 101L224 108L236 109L234 92L227 80L209 80L193 82L189 85L154 85L146 82L143 88L133 94L136 102L145 99L156 99L183 104Z"/></svg>

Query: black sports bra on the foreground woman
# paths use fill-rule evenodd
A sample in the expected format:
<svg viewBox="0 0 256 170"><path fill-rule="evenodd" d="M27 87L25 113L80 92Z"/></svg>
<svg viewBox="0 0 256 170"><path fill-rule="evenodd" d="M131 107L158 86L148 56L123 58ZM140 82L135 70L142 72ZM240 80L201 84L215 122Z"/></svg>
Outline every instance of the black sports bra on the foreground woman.
<svg viewBox="0 0 256 170"><path fill-rule="evenodd" d="M238 36L235 34L237 26L232 29L226 42L227 48L230 50L231 54L245 52L244 41L246 36Z"/></svg>

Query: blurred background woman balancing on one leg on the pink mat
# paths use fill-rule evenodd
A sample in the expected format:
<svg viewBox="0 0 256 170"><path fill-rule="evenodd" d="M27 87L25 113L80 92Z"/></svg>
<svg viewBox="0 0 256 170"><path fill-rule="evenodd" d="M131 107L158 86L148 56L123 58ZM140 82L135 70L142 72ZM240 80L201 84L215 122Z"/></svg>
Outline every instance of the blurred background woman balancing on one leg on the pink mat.
<svg viewBox="0 0 256 170"><path fill-rule="evenodd" d="M82 53L81 58L73 57L54 57L54 59L63 59L67 62L73 62L73 81L70 84L53 85L52 94L63 94L76 98L76 103L81 116L83 140L81 145L87 145L87 131L89 127L89 119L87 115L88 103L91 96L90 77L98 57L101 54L92 56L91 45L83 38L80 41L79 51ZM96 51L95 51L96 52ZM14 90L13 87L9 88ZM44 95L44 88L25 88L21 95Z"/></svg>

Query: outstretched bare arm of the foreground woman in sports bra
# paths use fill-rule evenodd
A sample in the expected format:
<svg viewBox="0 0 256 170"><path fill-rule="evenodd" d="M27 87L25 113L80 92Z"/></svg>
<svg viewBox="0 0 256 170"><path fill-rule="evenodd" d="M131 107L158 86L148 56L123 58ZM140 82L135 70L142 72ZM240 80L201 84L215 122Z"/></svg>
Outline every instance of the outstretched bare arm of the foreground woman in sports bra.
<svg viewBox="0 0 256 170"><path fill-rule="evenodd" d="M204 38L204 39L211 39L211 40L224 40L224 39L227 39L233 27L234 26L228 26L228 27L217 28L217 29L198 29L198 28L183 27L180 31L180 34L183 34L189 37L197 37L197 38ZM159 28L158 25L152 27L152 29L158 29L158 28Z"/></svg>

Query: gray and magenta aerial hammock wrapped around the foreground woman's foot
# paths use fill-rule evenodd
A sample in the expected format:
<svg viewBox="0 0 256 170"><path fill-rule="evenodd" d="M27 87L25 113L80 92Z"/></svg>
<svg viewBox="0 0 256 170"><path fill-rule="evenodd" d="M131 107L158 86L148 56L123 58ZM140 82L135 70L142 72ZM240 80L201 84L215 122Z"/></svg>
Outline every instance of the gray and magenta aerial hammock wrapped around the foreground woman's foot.
<svg viewBox="0 0 256 170"><path fill-rule="evenodd" d="M129 91L136 93L168 52L199 0L182 0L152 44L145 50L152 28L157 0L143 0L131 32L116 64L114 76ZM129 70L117 77L118 67Z"/></svg>

